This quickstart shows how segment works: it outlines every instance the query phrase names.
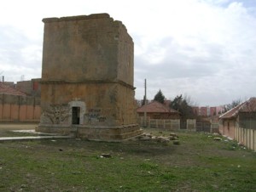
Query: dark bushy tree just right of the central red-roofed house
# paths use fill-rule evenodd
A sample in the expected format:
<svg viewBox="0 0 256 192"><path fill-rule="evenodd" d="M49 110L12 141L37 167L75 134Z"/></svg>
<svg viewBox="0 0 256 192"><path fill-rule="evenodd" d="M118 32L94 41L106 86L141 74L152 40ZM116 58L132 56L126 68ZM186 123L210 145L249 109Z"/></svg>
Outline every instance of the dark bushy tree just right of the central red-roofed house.
<svg viewBox="0 0 256 192"><path fill-rule="evenodd" d="M183 95L177 95L170 104L170 108L177 110L181 113L182 119L195 118L195 114L192 107L189 105L187 99L183 98Z"/></svg>

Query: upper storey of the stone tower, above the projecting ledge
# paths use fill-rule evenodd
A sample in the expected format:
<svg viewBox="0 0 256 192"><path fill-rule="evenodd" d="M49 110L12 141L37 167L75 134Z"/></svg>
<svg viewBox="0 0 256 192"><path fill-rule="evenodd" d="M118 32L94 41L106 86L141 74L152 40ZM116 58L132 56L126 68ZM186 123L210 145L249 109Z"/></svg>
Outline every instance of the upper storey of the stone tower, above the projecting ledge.
<svg viewBox="0 0 256 192"><path fill-rule="evenodd" d="M133 85L133 42L108 14L44 19L42 78Z"/></svg>

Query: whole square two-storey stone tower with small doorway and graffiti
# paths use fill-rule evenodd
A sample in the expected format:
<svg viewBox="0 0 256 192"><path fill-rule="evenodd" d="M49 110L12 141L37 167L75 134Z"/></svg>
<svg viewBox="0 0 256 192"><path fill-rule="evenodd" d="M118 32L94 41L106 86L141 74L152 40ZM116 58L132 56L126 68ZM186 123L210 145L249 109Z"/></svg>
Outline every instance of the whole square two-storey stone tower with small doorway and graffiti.
<svg viewBox="0 0 256 192"><path fill-rule="evenodd" d="M140 135L134 44L125 25L108 14L43 22L42 114L36 130L96 140Z"/></svg>

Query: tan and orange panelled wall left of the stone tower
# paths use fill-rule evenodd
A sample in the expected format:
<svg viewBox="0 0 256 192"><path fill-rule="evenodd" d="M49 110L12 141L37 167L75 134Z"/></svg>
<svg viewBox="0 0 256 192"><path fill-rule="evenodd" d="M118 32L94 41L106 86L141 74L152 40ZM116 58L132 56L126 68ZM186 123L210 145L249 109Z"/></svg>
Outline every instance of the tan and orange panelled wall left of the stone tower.
<svg viewBox="0 0 256 192"><path fill-rule="evenodd" d="M39 121L40 99L0 93L0 121Z"/></svg>

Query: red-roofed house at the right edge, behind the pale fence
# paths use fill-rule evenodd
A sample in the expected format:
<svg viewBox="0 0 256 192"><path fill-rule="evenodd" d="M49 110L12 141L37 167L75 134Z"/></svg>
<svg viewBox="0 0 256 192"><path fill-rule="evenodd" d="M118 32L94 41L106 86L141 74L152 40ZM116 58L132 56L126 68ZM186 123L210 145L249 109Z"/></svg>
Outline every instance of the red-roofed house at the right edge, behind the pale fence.
<svg viewBox="0 0 256 192"><path fill-rule="evenodd" d="M219 133L236 138L236 128L256 129L256 98L248 99L242 104L219 116Z"/></svg>

